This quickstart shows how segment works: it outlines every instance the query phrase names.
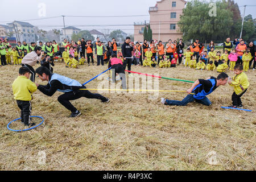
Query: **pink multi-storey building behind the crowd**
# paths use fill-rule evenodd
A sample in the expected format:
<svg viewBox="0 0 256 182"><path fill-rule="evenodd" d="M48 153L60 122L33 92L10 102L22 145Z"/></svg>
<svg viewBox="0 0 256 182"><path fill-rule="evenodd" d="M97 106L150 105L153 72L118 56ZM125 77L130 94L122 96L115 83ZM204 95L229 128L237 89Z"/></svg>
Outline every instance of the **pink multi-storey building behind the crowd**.
<svg viewBox="0 0 256 182"><path fill-rule="evenodd" d="M161 0L154 7L149 8L150 22L134 22L134 40L143 42L143 30L150 24L152 39L168 42L169 39L182 38L177 22L187 1Z"/></svg>

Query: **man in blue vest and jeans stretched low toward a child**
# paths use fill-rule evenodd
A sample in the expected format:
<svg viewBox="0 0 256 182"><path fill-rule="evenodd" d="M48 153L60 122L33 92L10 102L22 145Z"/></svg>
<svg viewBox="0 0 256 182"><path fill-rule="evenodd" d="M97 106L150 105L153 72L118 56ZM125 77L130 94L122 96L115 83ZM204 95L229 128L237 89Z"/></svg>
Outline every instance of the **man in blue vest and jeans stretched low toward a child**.
<svg viewBox="0 0 256 182"><path fill-rule="evenodd" d="M162 98L161 102L164 105L177 105L185 106L189 102L199 102L200 104L210 106L212 102L206 97L212 93L218 86L225 85L228 81L228 75L226 73L220 73L217 78L209 77L207 80L199 79L193 83L190 89L187 90L187 97L182 101L167 100ZM193 93L193 94L191 94Z"/></svg>

